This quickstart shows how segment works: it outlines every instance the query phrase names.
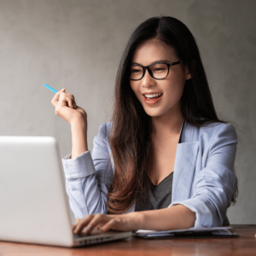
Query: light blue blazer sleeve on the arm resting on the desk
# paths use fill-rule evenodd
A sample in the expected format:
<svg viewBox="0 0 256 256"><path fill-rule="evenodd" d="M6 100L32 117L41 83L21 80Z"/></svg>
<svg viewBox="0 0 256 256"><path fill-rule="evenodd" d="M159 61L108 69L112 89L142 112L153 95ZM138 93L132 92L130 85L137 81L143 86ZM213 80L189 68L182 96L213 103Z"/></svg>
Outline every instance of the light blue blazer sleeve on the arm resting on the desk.
<svg viewBox="0 0 256 256"><path fill-rule="evenodd" d="M219 126L208 148L206 166L195 177L192 197L171 205L181 204L195 212L195 228L221 226L236 191L237 178L232 171L236 130L230 124Z"/></svg>

